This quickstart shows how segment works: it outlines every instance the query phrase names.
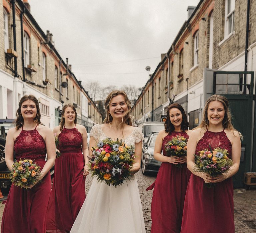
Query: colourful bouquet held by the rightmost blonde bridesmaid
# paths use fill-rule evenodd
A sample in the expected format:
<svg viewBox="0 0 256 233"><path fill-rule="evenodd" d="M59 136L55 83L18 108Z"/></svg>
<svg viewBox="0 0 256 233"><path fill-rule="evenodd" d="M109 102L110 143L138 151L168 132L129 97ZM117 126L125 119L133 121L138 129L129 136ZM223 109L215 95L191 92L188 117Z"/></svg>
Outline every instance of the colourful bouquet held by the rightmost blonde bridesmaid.
<svg viewBox="0 0 256 233"><path fill-rule="evenodd" d="M210 146L210 144L209 144ZM212 150L205 149L198 151L199 155L195 155L195 170L205 172L211 176L226 173L233 165L233 161L228 158L228 151L219 147ZM208 188L212 188L216 183L205 183Z"/></svg>

